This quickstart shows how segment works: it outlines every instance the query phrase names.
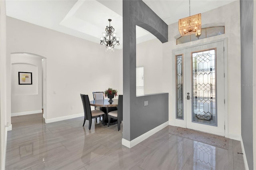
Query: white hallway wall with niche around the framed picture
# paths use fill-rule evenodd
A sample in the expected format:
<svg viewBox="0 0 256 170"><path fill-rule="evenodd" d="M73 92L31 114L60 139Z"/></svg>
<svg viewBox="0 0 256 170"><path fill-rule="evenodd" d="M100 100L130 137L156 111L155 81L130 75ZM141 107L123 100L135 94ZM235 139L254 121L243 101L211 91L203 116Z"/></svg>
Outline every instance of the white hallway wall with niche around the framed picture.
<svg viewBox="0 0 256 170"><path fill-rule="evenodd" d="M11 115L41 113L42 57L24 53L11 54L11 65ZM19 71L32 72L32 85L19 85Z"/></svg>

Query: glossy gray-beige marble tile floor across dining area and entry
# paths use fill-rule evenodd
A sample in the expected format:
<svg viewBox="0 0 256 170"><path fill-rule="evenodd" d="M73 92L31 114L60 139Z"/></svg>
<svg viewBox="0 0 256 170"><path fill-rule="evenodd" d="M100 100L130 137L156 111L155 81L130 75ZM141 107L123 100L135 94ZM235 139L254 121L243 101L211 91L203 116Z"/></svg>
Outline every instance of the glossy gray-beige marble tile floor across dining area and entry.
<svg viewBox="0 0 256 170"><path fill-rule="evenodd" d="M45 124L41 113L12 117L6 170L244 170L237 140L226 150L169 134L168 126L129 149L122 127L93 121L88 130L83 119Z"/></svg>

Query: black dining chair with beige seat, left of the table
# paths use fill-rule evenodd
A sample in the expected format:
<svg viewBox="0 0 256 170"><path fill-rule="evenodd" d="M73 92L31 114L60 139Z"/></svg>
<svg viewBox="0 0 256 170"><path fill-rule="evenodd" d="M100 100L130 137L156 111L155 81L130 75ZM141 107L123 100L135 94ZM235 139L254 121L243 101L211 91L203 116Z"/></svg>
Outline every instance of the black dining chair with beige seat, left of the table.
<svg viewBox="0 0 256 170"><path fill-rule="evenodd" d="M89 100L88 95L83 95L83 94L80 94L80 95L81 95L83 107L84 107L84 123L86 120L88 120L89 121L89 130L91 130L92 119L94 119L94 118L97 119L97 117L102 117L103 122L104 122L104 114L105 113L100 110L91 110L90 100ZM83 126L84 126L84 124L83 124Z"/></svg>

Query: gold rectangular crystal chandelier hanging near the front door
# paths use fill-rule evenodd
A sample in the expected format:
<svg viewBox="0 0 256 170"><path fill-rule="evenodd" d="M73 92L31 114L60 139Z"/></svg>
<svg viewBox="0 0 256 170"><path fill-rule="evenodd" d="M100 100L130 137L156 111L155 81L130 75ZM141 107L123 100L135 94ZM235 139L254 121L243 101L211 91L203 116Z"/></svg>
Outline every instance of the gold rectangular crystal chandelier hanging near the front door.
<svg viewBox="0 0 256 170"><path fill-rule="evenodd" d="M201 36L201 14L190 16L190 0L189 0L189 16L179 19L179 32L181 36L196 34Z"/></svg>

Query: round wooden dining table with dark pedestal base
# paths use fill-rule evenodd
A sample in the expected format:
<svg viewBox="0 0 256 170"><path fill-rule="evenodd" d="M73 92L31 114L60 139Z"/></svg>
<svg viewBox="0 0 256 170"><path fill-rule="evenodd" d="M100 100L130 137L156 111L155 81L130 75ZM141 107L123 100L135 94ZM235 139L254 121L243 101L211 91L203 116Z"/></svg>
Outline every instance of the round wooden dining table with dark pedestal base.
<svg viewBox="0 0 256 170"><path fill-rule="evenodd" d="M104 114L105 125L108 123L108 113L111 111L117 110L118 99L101 99L101 100L92 100L90 101L91 106L100 107ZM103 124L103 120L101 121ZM110 118L110 125L117 124L117 119Z"/></svg>

